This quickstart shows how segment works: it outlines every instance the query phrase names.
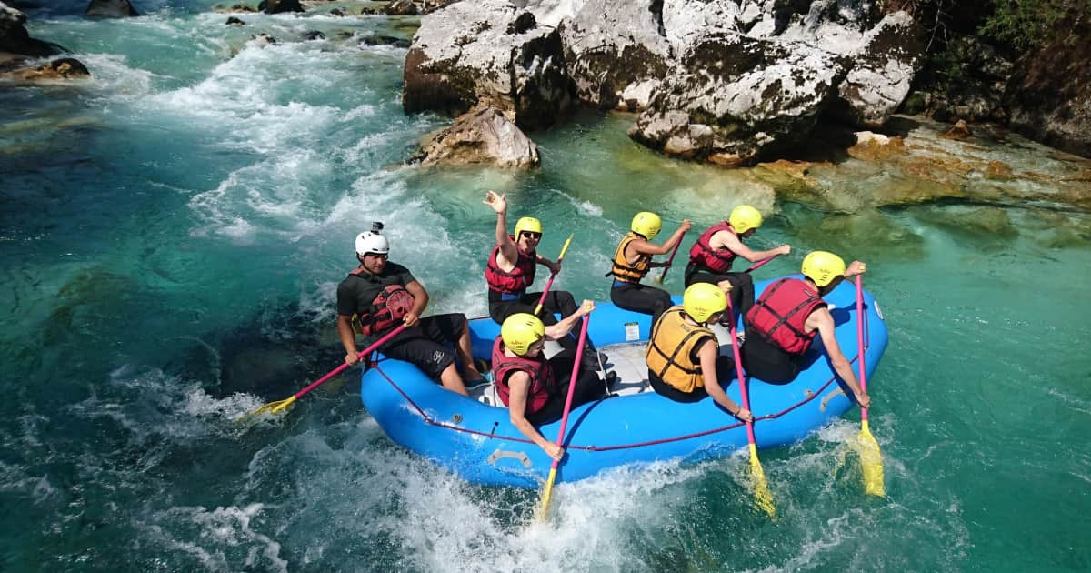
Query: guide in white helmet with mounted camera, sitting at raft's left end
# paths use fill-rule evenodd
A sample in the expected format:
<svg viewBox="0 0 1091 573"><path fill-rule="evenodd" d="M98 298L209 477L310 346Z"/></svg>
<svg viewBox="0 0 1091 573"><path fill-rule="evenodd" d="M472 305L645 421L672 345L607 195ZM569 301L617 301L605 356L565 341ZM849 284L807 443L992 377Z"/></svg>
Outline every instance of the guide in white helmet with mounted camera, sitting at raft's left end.
<svg viewBox="0 0 1091 573"><path fill-rule="evenodd" d="M356 238L360 266L337 286L337 334L345 346L345 362L357 362L356 333L379 338L398 324L407 327L381 348L389 358L405 360L421 369L443 387L468 395L455 356L463 363L466 380L481 380L470 354L469 325L460 312L421 318L428 291L408 268L391 262L389 242L379 234L382 223ZM454 351L451 350L454 347Z"/></svg>

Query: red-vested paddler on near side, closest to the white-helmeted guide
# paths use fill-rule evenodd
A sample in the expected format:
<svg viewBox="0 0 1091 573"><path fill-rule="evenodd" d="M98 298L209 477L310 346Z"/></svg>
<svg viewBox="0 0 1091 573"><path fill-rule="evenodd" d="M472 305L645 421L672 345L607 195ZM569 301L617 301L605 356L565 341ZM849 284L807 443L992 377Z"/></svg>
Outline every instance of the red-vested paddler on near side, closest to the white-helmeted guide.
<svg viewBox="0 0 1091 573"><path fill-rule="evenodd" d="M492 347L492 372L501 402L507 405L512 425L538 444L553 459L561 459L564 449L547 440L536 426L551 423L564 415L568 382L575 356L562 350L546 359L546 341L568 336L572 327L595 310L584 303L556 324L544 325L533 314L512 314L501 325ZM582 367L573 389L572 407L598 399L606 394L603 381L595 369Z"/></svg>

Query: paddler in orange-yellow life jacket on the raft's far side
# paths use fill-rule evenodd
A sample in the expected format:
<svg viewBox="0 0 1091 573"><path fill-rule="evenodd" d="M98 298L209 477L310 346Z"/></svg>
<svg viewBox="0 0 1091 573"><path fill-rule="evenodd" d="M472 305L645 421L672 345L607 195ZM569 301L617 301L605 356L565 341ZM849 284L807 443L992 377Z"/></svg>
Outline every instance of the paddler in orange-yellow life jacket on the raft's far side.
<svg viewBox="0 0 1091 573"><path fill-rule="evenodd" d="M667 266L667 263L652 262L651 258L671 252L693 224L685 219L662 244L650 242L662 227L659 215L647 211L637 213L630 225L630 232L622 237L614 250L613 266L607 273L607 276L613 275L610 300L618 308L651 314L652 324L671 307L671 295L661 288L642 285L640 280L649 270Z"/></svg>

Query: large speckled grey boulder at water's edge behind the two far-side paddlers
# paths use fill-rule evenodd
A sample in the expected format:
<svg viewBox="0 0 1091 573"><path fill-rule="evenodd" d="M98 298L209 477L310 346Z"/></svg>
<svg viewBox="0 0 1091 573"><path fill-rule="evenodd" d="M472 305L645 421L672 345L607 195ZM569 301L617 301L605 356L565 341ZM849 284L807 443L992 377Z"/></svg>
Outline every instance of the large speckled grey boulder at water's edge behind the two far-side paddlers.
<svg viewBox="0 0 1091 573"><path fill-rule="evenodd" d="M848 70L846 58L803 44L707 35L628 133L669 155L753 164L806 138Z"/></svg>

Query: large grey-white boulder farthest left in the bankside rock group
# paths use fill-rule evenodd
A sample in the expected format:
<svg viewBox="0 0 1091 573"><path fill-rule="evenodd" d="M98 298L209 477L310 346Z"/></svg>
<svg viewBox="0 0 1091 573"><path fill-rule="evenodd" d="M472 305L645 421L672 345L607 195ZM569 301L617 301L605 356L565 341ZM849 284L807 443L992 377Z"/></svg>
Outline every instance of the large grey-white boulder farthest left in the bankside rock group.
<svg viewBox="0 0 1091 573"><path fill-rule="evenodd" d="M553 124L573 103L556 28L504 0L456 2L421 17L406 55L406 112L495 107L523 129Z"/></svg>

